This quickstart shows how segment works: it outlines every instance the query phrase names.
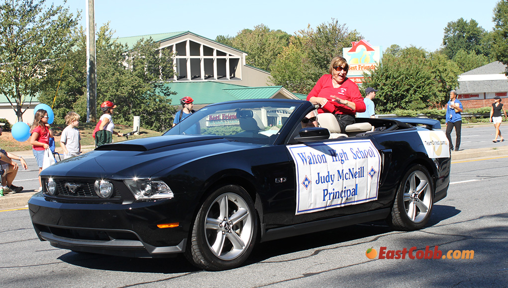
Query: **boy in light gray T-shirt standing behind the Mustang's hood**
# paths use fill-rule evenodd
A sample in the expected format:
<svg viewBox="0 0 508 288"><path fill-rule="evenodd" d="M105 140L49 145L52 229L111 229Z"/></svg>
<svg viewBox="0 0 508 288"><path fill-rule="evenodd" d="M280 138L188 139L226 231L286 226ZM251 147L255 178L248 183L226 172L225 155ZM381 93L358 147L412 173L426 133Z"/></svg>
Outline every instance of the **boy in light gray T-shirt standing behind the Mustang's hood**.
<svg viewBox="0 0 508 288"><path fill-rule="evenodd" d="M60 147L63 149L63 159L71 158L81 154L81 135L76 127L79 125L79 115L69 112L65 116L65 123L68 125L63 129L60 137Z"/></svg>

